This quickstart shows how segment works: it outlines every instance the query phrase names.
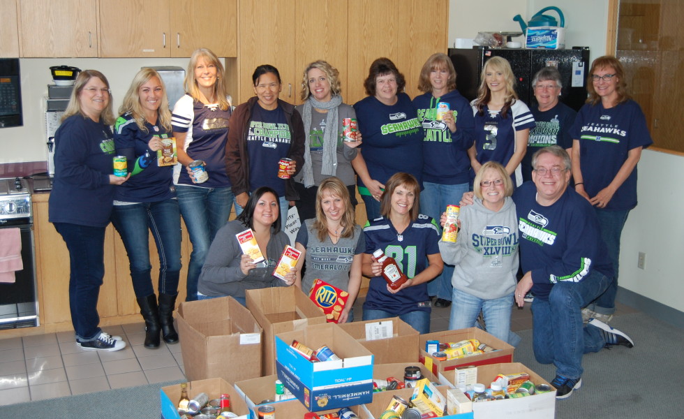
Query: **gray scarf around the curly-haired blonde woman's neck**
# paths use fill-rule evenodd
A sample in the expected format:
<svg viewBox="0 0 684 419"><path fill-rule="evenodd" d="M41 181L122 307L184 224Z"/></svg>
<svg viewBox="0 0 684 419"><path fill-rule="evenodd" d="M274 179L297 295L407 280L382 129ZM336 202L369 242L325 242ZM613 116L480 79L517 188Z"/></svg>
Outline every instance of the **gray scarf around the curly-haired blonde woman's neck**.
<svg viewBox="0 0 684 419"><path fill-rule="evenodd" d="M302 167L302 174L304 180L304 187L310 188L313 186L313 167L311 166L311 140L309 134L311 133L311 111L313 108L327 110L328 115L325 120L325 128L323 128L323 163L320 172L322 175L334 175L335 167L337 165L337 135L339 126L339 105L342 103L342 96L336 94L332 96L330 101L319 102L313 96L304 102L302 108L302 122L304 122L304 132L306 133L304 140L304 167Z"/></svg>

